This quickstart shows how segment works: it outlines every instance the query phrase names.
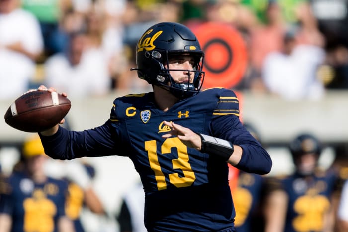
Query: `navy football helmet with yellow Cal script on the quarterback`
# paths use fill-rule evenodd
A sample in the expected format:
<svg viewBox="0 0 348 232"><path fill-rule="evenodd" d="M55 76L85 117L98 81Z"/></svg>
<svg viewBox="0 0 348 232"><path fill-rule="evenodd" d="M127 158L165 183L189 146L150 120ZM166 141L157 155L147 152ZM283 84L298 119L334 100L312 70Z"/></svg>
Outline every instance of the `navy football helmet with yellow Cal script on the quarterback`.
<svg viewBox="0 0 348 232"><path fill-rule="evenodd" d="M175 83L169 71L169 57L189 54L194 57L192 83ZM174 22L153 25L141 36L136 46L138 77L149 84L166 87L180 99L197 94L203 84L204 52L193 32L186 26ZM181 71L181 70L174 70ZM182 70L184 71L184 70ZM168 84L170 83L170 84Z"/></svg>

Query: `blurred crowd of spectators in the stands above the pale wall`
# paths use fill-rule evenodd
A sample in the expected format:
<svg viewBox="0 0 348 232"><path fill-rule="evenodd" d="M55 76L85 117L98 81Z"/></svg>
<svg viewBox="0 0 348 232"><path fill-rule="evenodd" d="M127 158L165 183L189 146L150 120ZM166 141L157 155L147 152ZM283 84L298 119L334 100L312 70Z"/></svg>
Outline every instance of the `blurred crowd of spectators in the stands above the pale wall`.
<svg viewBox="0 0 348 232"><path fill-rule="evenodd" d="M129 69L140 33L159 21L236 28L248 55L236 90L320 99L348 88L347 7L346 0L0 0L0 99L42 83L70 97L146 91Z"/></svg>

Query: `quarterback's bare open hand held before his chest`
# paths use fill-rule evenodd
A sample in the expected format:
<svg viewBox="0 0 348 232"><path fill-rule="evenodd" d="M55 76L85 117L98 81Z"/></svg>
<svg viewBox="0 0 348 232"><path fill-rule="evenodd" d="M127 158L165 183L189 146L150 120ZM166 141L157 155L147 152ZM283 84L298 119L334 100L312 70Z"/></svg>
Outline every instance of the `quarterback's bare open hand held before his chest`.
<svg viewBox="0 0 348 232"><path fill-rule="evenodd" d="M162 138L177 136L177 138L179 138L181 142L185 144L187 147L201 150L202 140L200 136L194 133L193 131L191 131L191 129L187 127L183 127L172 121L171 122L164 121L164 124L166 126L169 126L172 130L169 133L162 135Z"/></svg>

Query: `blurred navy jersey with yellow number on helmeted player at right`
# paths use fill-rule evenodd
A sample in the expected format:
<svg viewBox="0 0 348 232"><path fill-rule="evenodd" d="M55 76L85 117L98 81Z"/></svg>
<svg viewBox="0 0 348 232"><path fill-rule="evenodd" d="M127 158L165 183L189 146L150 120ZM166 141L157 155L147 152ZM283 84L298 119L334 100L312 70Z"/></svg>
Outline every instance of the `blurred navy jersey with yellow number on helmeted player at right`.
<svg viewBox="0 0 348 232"><path fill-rule="evenodd" d="M289 197L284 232L323 231L336 179L333 172L318 172L307 181L299 174L280 180Z"/></svg>

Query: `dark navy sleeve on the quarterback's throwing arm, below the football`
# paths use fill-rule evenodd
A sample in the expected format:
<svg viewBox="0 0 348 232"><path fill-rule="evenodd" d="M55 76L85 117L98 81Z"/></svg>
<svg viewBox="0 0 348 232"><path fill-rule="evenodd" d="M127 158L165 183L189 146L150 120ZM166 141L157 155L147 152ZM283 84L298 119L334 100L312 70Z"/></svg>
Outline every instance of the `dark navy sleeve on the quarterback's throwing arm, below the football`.
<svg viewBox="0 0 348 232"><path fill-rule="evenodd" d="M54 159L74 159L121 155L120 141L107 121L104 125L84 131L68 131L59 127L56 134L43 136L39 133L46 155Z"/></svg>

